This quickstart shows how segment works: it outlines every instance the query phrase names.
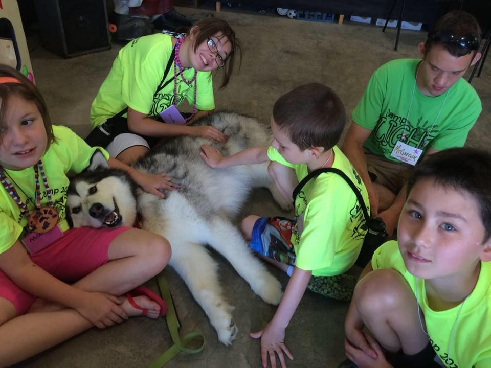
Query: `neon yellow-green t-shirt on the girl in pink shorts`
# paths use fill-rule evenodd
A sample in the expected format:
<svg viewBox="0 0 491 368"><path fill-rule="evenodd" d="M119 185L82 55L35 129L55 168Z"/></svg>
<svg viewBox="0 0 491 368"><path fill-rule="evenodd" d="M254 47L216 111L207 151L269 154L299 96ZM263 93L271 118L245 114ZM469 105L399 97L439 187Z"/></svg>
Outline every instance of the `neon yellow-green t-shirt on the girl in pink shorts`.
<svg viewBox="0 0 491 368"><path fill-rule="evenodd" d="M68 230L66 222L65 204L66 189L69 179L66 173L78 174L89 164L92 155L100 150L109 159L109 154L100 147L89 147L77 134L63 126L53 126L56 142L41 156L48 185L52 190L52 200L59 214L58 225L61 231ZM35 209L36 183L34 168L24 170L4 169L7 178L14 186L20 200L23 201L29 213ZM46 189L40 182L41 206L48 205ZM27 196L26 196L27 195ZM19 206L12 199L3 186L0 186L0 253L9 249L20 237L27 225L27 217L21 214Z"/></svg>

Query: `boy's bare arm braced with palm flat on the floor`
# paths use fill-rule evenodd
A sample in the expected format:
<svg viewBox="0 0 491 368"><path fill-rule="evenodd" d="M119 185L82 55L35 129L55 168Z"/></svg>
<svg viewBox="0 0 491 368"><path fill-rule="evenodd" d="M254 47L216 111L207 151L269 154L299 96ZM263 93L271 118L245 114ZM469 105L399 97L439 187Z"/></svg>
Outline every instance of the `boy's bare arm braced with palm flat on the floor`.
<svg viewBox="0 0 491 368"><path fill-rule="evenodd" d="M268 355L270 356L272 368L276 368L275 352L280 359L281 368L286 368L283 352L288 358L293 359L292 353L290 353L284 343L285 329L302 300L303 293L310 281L311 273L312 271L295 267L273 319L262 331L251 333L251 337L261 338L261 360L264 368L267 366Z"/></svg>

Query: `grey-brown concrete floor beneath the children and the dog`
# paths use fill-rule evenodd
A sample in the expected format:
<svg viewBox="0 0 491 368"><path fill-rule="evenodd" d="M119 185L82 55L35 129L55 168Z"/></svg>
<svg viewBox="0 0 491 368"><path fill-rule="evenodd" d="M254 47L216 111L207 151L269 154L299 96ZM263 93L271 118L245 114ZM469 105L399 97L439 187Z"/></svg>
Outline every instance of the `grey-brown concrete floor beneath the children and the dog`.
<svg viewBox="0 0 491 368"><path fill-rule="evenodd" d="M177 8L194 19L202 10ZM222 12L242 41L242 68L229 86L217 91L217 109L229 109L255 116L269 123L275 100L293 87L318 81L338 92L351 113L363 94L375 68L395 58L417 57L416 45L426 38L425 32L401 32L399 51L393 51L395 30L381 32L380 27L358 24L325 24L266 17L253 14ZM33 38L33 39L31 39ZM30 47L37 39L30 37ZM40 45L31 53L37 85L50 108L55 124L67 125L85 136L90 130L89 111L99 86L107 75L120 45L108 51L73 59L61 59ZM491 56L490 56L491 57ZM219 76L218 76L219 77ZM216 79L219 80L218 78ZM491 60L487 60L480 78L473 86L482 100L483 112L470 132L468 146L489 147L491 134ZM279 209L265 191L254 192L242 215L275 215ZM219 257L217 257L219 258ZM217 340L202 309L187 287L168 268L165 275L180 316L181 335L200 331L206 339L203 352L181 353L169 367L259 367L259 342L249 332L265 326L275 307L266 305L247 283L220 259L221 282L225 295L235 306L234 318L239 328L237 339L227 348ZM286 285L287 277L272 269ZM353 273L360 272L354 269ZM154 280L148 285L156 290ZM307 292L287 328L285 342L295 360L288 367L337 367L344 359L343 320L348 304L327 300ZM132 318L106 330L92 329L60 346L18 364L19 367L145 367L171 345L164 318Z"/></svg>

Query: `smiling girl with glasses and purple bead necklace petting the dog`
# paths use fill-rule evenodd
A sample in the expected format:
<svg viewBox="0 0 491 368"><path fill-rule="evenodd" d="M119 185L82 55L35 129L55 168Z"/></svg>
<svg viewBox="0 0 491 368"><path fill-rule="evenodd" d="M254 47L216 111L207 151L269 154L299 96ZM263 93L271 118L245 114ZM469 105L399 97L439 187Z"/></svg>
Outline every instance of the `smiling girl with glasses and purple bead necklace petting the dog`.
<svg viewBox="0 0 491 368"><path fill-rule="evenodd" d="M215 17L199 20L187 34L158 33L130 41L92 103L93 131L85 141L106 147L127 164L162 137L191 135L225 142L227 137L211 126L185 123L214 111L211 72L222 68L220 88L225 87L238 51L235 32ZM193 106L186 118L176 110L184 100Z"/></svg>

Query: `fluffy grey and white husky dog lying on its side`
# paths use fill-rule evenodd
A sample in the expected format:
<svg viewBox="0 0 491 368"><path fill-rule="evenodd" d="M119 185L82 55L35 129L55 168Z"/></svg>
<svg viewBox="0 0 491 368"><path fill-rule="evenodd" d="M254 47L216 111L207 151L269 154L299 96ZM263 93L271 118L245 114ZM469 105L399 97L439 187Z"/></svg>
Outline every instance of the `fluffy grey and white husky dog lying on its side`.
<svg viewBox="0 0 491 368"><path fill-rule="evenodd" d="M267 146L271 134L259 123L235 113L219 112L194 125L212 125L228 137L214 143L228 156L252 146ZM252 188L269 188L287 209L267 163L212 169L199 156L208 140L181 136L152 149L134 167L145 173L162 173L182 183L184 189L169 191L159 199L137 188L121 171L109 169L101 153L91 166L73 178L68 190L67 213L74 227L133 225L137 212L142 228L167 238L172 247L170 265L181 275L202 306L218 334L230 345L237 327L232 307L221 295L217 265L204 245L220 252L266 303L278 304L281 285L252 254L230 218L240 210Z"/></svg>

